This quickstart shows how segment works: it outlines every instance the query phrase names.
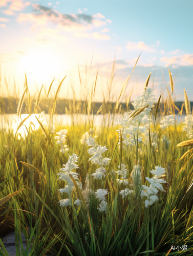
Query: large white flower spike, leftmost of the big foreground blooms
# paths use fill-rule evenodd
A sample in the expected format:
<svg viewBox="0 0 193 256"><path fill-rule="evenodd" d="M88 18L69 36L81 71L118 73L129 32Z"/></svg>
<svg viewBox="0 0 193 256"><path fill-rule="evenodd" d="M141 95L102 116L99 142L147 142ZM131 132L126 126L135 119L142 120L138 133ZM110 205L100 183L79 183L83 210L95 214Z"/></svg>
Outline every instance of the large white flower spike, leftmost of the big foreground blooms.
<svg viewBox="0 0 193 256"><path fill-rule="evenodd" d="M70 207L72 206L72 196L71 195L72 195L72 190L74 189L74 183L70 178L70 174L72 175L73 179L76 181L77 185L80 188L82 188L82 183L78 179L79 174L72 172L73 169L79 168L78 165L75 164L77 161L78 161L78 156L76 154L69 156L69 160L68 160L67 164L63 164L63 166L65 166L65 168L60 169L63 171L63 173L57 174L57 175L60 175L58 180L65 180L67 182L67 185L65 186L65 188L60 188L60 189L58 189L58 191L60 191L60 193L66 192L69 195L69 198L62 199L58 202L58 203L60 203L60 206L68 206L68 205ZM79 201L76 200L74 203L78 204Z"/></svg>

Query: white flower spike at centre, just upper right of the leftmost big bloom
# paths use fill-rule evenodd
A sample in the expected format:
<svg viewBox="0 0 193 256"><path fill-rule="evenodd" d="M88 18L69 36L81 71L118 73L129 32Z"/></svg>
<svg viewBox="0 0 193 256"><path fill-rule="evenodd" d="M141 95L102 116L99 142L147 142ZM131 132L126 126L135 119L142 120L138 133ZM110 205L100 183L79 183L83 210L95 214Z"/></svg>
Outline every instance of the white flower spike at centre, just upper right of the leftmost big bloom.
<svg viewBox="0 0 193 256"><path fill-rule="evenodd" d="M96 172L92 174L92 176L94 176L95 179L101 179L102 176L104 177L106 173L106 169L104 166L108 165L109 161L111 160L110 158L103 158L102 156L102 153L104 153L108 149L106 148L106 146L97 145L95 139L91 136L87 139L87 145L92 146L88 150L89 155L93 155L93 157L91 157L89 161L91 161L92 164L95 163L100 166L98 169L96 169Z"/></svg>

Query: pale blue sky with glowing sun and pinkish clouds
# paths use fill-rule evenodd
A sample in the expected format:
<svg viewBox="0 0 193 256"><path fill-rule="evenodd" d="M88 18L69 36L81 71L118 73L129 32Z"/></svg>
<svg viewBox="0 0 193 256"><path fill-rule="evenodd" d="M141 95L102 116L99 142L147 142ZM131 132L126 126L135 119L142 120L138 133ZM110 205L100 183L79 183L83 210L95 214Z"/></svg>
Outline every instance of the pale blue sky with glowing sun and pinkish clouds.
<svg viewBox="0 0 193 256"><path fill-rule="evenodd" d="M49 1L0 0L1 95L22 96L26 73L36 97L55 78L54 96L67 75L59 98L91 97L96 81L94 100L111 91L116 101L130 75L124 96L133 88L133 100L152 72L148 87L166 98L170 69L175 100L185 88L193 101L192 0Z"/></svg>

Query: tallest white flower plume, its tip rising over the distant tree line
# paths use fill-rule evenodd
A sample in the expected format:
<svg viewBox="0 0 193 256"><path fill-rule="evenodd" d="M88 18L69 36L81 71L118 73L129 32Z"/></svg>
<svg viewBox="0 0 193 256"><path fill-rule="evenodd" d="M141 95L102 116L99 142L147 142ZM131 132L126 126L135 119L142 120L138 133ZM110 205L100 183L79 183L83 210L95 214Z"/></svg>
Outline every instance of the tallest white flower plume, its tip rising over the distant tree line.
<svg viewBox="0 0 193 256"><path fill-rule="evenodd" d="M148 134L148 128L151 125L151 121L149 120L149 112L151 111L153 102L155 100L154 90L155 89L146 88L143 94L138 96L135 99L134 103L132 103L135 110L142 108L143 106L148 104L149 106L143 112L141 112L138 116L136 116L132 120L131 124L128 124L129 120L127 117L117 120L116 124L120 124L122 126L121 134L123 138L123 143L126 146L128 144L132 144L132 145L136 144L138 124L139 124L139 134L143 134L144 137L147 137L146 135ZM140 123L143 124L143 126L140 125ZM120 138L120 131L119 130L117 131L119 132L119 138ZM142 142L142 139L143 137L138 136L138 142Z"/></svg>

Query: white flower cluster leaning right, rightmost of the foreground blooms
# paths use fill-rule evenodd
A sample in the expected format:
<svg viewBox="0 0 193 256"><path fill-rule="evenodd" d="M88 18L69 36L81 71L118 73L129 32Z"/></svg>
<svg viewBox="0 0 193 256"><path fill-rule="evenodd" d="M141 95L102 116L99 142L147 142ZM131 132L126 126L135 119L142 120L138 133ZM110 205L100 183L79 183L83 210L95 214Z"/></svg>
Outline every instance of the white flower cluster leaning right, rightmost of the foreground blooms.
<svg viewBox="0 0 193 256"><path fill-rule="evenodd" d="M161 166L156 166L155 170L149 170L154 177L149 179L148 177L145 177L151 185L149 187L142 185L141 190L141 198L146 197L145 200L145 207L147 208L149 205L154 204L157 200L159 200L157 193L158 189L163 191L163 186L160 183L166 183L165 180L159 179L160 177L164 176L165 174L165 168L162 168Z"/></svg>

